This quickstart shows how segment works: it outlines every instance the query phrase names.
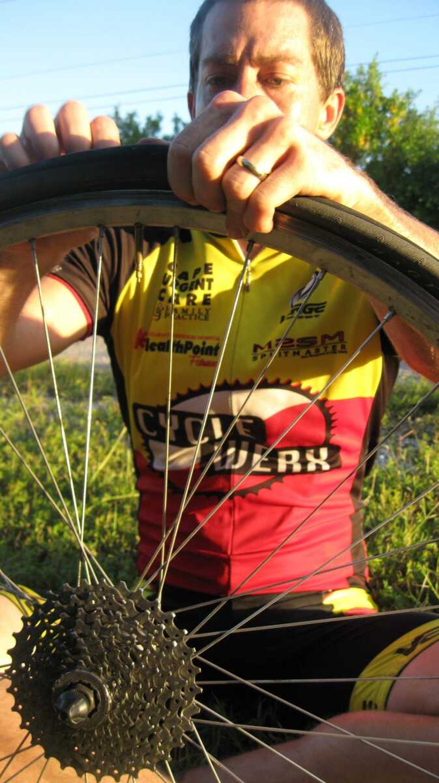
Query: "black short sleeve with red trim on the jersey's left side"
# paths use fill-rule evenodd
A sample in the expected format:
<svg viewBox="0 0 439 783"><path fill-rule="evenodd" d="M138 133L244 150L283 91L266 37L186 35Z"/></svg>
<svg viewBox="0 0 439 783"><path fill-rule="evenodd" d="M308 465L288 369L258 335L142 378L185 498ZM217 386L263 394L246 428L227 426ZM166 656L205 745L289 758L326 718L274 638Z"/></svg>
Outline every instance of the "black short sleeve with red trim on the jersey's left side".
<svg viewBox="0 0 439 783"><path fill-rule="evenodd" d="M147 258L171 234L169 229L145 229L143 257ZM90 316L90 323L95 317L98 248L98 239L77 247L51 272L52 277L62 280L77 295ZM98 334L102 337L109 334L116 302L134 270L134 255L134 228L105 229L98 300Z"/></svg>

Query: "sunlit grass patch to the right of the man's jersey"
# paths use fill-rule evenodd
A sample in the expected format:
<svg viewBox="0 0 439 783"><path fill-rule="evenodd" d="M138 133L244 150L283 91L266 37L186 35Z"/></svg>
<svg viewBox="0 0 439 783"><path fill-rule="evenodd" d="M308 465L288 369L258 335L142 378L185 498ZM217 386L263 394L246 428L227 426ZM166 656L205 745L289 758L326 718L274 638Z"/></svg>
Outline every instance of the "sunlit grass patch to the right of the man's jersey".
<svg viewBox="0 0 439 783"><path fill-rule="evenodd" d="M422 378L403 375L391 396L384 432L393 428L430 388L431 384ZM366 481L366 530L439 482L438 404L439 391L434 391L381 449ZM438 507L439 487L371 536L369 553L390 553L437 538ZM439 538L427 546L372 561L373 593L381 608L439 603L438 543Z"/></svg>

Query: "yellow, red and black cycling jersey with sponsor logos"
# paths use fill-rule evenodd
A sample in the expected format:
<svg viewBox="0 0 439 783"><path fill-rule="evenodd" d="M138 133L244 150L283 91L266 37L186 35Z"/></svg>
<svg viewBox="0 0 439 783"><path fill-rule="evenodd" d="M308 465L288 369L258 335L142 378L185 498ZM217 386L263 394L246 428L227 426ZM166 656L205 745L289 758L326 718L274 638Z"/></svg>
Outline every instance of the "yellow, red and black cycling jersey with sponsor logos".
<svg viewBox="0 0 439 783"><path fill-rule="evenodd" d="M98 314L134 448L140 569L162 537L170 352L167 525L177 515L195 458L243 265L234 241L182 233L171 345L172 233L145 230L144 256L139 283L133 233L107 231ZM309 264L267 248L252 262L219 367L193 483L276 351L298 309L297 301L291 307L291 298L309 283L313 271ZM73 252L53 274L71 287L91 319L95 248ZM375 334L316 404L308 406L376 327L365 295L327 274L187 505L177 547L195 535L171 562L170 585L209 594L279 593L291 586L293 592L320 594L323 604L336 612L373 611L365 592L364 543L355 543L362 535L365 472L365 466L356 466L376 441L398 365L382 335ZM255 470L244 478L252 466ZM236 492L216 510L221 497L236 485ZM323 505L313 511L319 503ZM240 586L262 561L262 568ZM153 568L157 565L158 558Z"/></svg>

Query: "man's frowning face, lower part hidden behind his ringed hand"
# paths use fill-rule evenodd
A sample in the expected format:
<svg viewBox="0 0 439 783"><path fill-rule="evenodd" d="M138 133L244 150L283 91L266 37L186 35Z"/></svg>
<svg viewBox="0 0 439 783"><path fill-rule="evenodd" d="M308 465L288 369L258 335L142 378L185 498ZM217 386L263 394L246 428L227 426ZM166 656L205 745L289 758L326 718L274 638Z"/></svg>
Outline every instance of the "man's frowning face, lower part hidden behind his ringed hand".
<svg viewBox="0 0 439 783"><path fill-rule="evenodd" d="M218 2L205 19L192 117L218 92L266 95L317 132L324 101L312 63L309 19L291 0Z"/></svg>

